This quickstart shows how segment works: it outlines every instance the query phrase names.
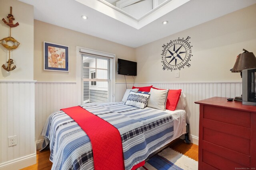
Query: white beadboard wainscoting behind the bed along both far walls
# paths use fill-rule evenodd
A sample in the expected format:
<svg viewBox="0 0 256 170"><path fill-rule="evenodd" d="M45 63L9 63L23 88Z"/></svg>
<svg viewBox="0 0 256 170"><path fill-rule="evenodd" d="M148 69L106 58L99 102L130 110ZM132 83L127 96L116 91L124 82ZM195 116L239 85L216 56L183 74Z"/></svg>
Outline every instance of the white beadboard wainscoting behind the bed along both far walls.
<svg viewBox="0 0 256 170"><path fill-rule="evenodd" d="M132 88L132 83L127 87ZM195 101L220 96L241 96L241 82L200 82L200 83L135 83L134 86L150 86L158 88L182 89L186 95L188 113L187 122L190 123L190 140L198 144L199 106ZM35 85L35 119L36 143L40 149L43 137L40 136L47 117L62 108L77 106L76 82L36 82ZM125 83L116 83L116 101L121 101L126 91Z"/></svg>

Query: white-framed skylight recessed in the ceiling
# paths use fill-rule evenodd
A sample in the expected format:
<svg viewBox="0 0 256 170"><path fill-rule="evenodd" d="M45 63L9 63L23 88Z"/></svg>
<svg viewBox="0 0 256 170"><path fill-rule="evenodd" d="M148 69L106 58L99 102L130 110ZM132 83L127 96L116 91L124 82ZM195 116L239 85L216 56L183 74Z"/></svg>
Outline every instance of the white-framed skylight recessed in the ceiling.
<svg viewBox="0 0 256 170"><path fill-rule="evenodd" d="M140 29L190 0L76 0L107 16Z"/></svg>

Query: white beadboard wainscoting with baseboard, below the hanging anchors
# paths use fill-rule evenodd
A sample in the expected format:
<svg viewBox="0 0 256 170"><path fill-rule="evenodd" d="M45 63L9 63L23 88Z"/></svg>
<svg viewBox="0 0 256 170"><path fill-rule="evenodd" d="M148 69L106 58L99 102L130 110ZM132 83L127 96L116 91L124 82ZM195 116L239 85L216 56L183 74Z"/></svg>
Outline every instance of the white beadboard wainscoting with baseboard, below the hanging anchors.
<svg viewBox="0 0 256 170"><path fill-rule="evenodd" d="M35 82L0 80L0 169L36 163ZM8 137L17 145L8 147Z"/></svg>

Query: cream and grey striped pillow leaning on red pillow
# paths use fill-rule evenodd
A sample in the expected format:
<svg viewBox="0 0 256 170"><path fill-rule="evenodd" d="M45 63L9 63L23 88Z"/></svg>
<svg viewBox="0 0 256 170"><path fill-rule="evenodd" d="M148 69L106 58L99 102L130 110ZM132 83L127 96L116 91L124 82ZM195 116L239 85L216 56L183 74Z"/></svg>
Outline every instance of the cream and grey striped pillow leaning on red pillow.
<svg viewBox="0 0 256 170"><path fill-rule="evenodd" d="M157 90L157 89L151 88L150 98L148 99L148 107L165 110L168 91L169 89Z"/></svg>

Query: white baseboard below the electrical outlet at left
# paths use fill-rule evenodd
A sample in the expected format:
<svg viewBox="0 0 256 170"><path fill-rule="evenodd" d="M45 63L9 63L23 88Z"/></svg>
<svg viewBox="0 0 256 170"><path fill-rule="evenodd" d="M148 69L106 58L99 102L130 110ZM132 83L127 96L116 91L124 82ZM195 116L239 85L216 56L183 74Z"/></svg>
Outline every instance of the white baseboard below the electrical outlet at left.
<svg viewBox="0 0 256 170"><path fill-rule="evenodd" d="M36 164L36 153L0 164L0 170L19 170Z"/></svg>

